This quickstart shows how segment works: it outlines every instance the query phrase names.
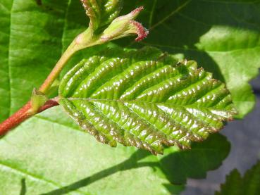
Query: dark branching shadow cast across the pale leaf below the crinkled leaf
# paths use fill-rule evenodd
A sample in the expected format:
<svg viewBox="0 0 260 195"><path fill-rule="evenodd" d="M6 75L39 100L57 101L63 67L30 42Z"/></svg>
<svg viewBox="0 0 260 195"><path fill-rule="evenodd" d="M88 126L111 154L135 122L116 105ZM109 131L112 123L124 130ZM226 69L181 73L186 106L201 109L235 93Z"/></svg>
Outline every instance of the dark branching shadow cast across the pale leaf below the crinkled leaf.
<svg viewBox="0 0 260 195"><path fill-rule="evenodd" d="M101 170L60 189L49 191L45 195L67 194L116 172L147 166L153 168L154 172L161 172L161 177L166 175L171 184L164 184L164 186L172 194L176 194L182 191L182 184L185 184L187 178L204 178L208 170L218 168L228 156L229 151L230 143L221 134L213 134L202 143L194 143L190 151L178 151L175 147L171 147L165 150L163 156L156 157L147 151L138 150L128 160L118 165ZM151 161L154 158L158 158L158 161Z"/></svg>

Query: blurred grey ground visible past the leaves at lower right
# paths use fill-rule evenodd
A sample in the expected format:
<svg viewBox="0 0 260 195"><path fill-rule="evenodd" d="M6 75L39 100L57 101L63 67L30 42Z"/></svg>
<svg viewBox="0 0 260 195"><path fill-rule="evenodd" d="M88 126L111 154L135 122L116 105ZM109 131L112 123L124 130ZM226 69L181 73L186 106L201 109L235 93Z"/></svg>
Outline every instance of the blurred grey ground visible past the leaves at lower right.
<svg viewBox="0 0 260 195"><path fill-rule="evenodd" d="M256 95L256 106L243 120L230 122L222 131L231 144L231 150L217 170L209 171L204 180L188 180L181 195L214 194L225 176L237 168L244 174L260 159L260 76L251 82ZM220 143L221 144L221 143ZM259 191L260 194L260 191Z"/></svg>

